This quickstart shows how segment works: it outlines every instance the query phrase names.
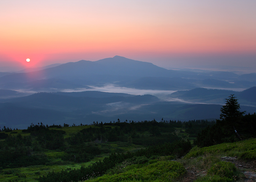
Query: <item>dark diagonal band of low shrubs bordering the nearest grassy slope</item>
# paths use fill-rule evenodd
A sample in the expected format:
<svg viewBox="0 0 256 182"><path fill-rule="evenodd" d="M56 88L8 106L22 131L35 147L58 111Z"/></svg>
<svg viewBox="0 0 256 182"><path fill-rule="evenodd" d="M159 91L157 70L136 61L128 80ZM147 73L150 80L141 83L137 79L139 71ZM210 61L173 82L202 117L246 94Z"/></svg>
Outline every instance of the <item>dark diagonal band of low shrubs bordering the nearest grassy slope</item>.
<svg viewBox="0 0 256 182"><path fill-rule="evenodd" d="M62 170L62 172L49 172L47 176L39 177L39 182L68 182L68 181L84 181L103 175L108 169L113 168L118 163L127 159L142 157L150 158L152 156L171 155L173 159L185 155L191 149L189 141L180 140L173 143L164 143L141 149L137 152L112 153L109 157L105 157L102 161L96 162L88 167L81 169ZM137 160L139 161L139 160Z"/></svg>

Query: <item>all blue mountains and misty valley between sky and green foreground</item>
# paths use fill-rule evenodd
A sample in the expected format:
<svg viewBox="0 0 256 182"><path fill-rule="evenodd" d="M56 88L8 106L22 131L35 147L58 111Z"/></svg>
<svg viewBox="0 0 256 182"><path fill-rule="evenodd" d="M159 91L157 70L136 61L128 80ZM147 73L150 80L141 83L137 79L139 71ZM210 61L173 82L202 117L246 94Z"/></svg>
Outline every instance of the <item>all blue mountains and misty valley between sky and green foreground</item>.
<svg viewBox="0 0 256 182"><path fill-rule="evenodd" d="M230 94L241 110L256 112L256 73L167 70L121 56L20 72L0 74L1 127L215 120Z"/></svg>

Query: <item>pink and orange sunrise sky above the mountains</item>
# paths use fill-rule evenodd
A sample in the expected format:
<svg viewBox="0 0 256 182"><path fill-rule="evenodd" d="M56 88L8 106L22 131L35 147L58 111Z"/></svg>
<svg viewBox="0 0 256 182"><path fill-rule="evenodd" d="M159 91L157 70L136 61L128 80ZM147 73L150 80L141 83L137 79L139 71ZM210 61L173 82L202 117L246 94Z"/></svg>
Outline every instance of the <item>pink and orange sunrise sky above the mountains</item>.
<svg viewBox="0 0 256 182"><path fill-rule="evenodd" d="M120 55L256 72L255 9L255 0L0 0L0 67Z"/></svg>

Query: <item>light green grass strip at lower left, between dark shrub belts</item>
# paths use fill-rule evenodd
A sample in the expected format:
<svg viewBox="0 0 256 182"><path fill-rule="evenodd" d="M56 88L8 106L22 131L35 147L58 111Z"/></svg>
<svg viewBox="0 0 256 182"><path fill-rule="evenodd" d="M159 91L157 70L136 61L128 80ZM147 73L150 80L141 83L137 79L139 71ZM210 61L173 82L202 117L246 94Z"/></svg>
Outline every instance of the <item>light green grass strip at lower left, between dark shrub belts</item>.
<svg viewBox="0 0 256 182"><path fill-rule="evenodd" d="M87 126L86 126L87 127ZM65 127L63 127L65 128ZM72 128L72 127L68 127ZM83 129L83 128L82 128ZM72 132L72 130L69 130ZM136 151L142 148L140 145L127 144L127 142L108 142L103 144L97 144L99 148L107 148L110 151ZM46 150L43 152L47 155L50 162L46 165L39 166L28 166L16 169L3 169L0 170L0 181L9 181L9 180L18 180L18 181L27 181L34 182L37 181L37 178L42 175L47 175L48 172L60 172L63 170L71 169L80 169L81 166L89 166L96 161L103 160L105 157L108 157L110 153L104 153L96 156L91 161L86 163L73 163L68 161L62 161L61 157L64 155L63 151L54 151Z"/></svg>

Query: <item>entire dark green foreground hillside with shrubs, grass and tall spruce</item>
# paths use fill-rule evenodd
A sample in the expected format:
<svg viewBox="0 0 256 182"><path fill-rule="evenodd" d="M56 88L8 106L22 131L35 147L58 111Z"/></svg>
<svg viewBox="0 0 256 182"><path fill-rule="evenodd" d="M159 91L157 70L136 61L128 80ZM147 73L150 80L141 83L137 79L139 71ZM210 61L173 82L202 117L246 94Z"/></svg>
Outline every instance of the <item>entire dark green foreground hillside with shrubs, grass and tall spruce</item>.
<svg viewBox="0 0 256 182"><path fill-rule="evenodd" d="M220 111L216 122L117 119L79 126L38 123L24 130L4 127L0 177L9 182L243 181L245 172L237 168L241 161L236 158L253 166L256 114L240 111L234 95ZM226 154L230 157L223 160L232 163L221 161Z"/></svg>

